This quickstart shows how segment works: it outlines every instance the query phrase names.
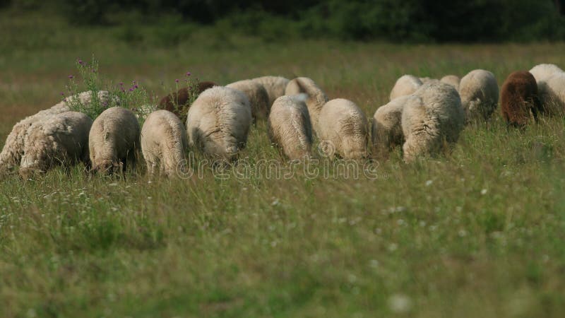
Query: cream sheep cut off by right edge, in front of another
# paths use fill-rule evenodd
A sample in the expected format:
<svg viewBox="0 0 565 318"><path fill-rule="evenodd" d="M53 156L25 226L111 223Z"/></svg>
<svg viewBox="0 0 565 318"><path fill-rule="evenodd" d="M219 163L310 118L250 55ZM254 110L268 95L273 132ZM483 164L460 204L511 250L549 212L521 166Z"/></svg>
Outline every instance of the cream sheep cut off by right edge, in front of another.
<svg viewBox="0 0 565 318"><path fill-rule="evenodd" d="M538 81L537 90L544 114L554 116L565 113L565 72Z"/></svg>

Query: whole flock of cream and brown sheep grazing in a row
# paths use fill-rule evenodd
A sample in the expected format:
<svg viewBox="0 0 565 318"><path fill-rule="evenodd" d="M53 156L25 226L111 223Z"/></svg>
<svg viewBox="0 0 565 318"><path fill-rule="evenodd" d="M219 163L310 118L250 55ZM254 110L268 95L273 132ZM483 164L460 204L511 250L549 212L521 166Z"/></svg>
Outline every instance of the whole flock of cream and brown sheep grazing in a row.
<svg viewBox="0 0 565 318"><path fill-rule="evenodd" d="M457 142L466 123L486 121L499 104L499 86L489 71L436 80L405 75L390 102L369 121L355 102L328 100L311 80L263 76L227 86L200 83L186 119L175 112L188 89L163 98L140 128L131 110L111 107L94 119L69 107L84 92L18 122L0 153L2 175L16 169L28 178L54 165L83 161L97 172L117 172L135 163L138 148L150 174L173 177L185 169L189 149L230 162L246 145L254 121L266 119L268 136L290 160L311 155L313 136L328 157L386 156L402 145L406 162L434 155ZM97 98L108 104L109 93ZM174 101L174 102L173 102ZM565 72L553 64L511 73L500 90L501 112L510 125L524 126L537 115L565 110ZM159 108L159 109L157 109ZM186 121L186 125L183 122Z"/></svg>

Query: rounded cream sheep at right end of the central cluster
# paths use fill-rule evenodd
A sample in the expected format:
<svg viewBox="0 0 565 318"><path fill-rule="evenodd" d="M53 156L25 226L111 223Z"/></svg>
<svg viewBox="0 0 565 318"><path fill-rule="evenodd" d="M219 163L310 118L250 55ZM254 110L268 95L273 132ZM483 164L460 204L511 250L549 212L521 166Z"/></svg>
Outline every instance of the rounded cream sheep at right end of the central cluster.
<svg viewBox="0 0 565 318"><path fill-rule="evenodd" d="M367 157L367 117L354 102L342 98L326 102L320 112L319 128L324 155L340 155L344 159Z"/></svg>

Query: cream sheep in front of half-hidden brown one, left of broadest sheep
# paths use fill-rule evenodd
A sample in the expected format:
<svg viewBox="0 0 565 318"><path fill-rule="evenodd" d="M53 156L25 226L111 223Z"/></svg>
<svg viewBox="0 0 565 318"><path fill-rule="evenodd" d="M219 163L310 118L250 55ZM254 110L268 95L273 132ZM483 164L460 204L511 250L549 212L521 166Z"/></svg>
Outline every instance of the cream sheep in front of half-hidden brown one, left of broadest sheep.
<svg viewBox="0 0 565 318"><path fill-rule="evenodd" d="M157 166L160 174L167 177L184 172L188 146L186 129L172 112L157 110L145 119L141 129L141 152L150 175L155 174Z"/></svg>

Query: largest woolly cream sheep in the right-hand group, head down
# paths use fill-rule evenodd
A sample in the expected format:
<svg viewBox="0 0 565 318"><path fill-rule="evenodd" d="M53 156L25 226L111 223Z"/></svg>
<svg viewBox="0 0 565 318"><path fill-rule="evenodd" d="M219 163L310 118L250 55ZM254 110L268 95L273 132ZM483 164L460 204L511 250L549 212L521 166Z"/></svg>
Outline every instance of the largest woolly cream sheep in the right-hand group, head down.
<svg viewBox="0 0 565 318"><path fill-rule="evenodd" d="M424 84L404 105L403 158L406 163L422 155L435 155L444 143L457 142L465 124L465 112L453 86L434 81Z"/></svg>

